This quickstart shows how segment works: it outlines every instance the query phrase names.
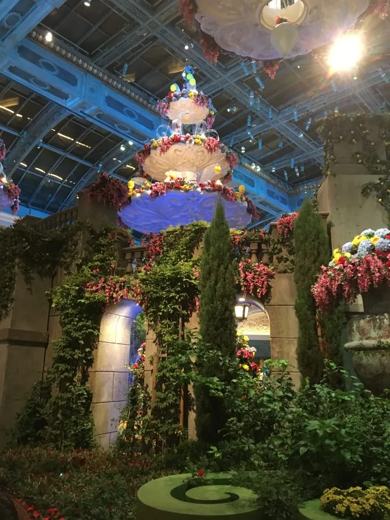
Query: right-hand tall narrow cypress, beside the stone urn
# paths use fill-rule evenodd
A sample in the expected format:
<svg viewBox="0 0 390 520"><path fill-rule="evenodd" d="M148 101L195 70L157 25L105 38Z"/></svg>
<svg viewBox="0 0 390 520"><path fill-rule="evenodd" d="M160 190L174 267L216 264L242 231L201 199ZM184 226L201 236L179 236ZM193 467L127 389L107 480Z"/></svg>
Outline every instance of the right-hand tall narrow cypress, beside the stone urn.
<svg viewBox="0 0 390 520"><path fill-rule="evenodd" d="M321 215L309 199L303 203L294 224L296 287L295 314L298 319L298 368L311 384L319 383L323 372L323 355L320 352L316 305L310 292L321 265L330 261L328 233Z"/></svg>

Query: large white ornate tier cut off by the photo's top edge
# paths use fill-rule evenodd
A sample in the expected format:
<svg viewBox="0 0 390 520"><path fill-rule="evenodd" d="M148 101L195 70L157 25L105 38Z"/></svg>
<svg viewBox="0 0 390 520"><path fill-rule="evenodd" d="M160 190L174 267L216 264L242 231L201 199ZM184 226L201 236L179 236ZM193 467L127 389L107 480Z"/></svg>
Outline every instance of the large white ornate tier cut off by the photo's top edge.
<svg viewBox="0 0 390 520"><path fill-rule="evenodd" d="M352 27L370 0L297 0L284 9L268 7L269 0L196 0L196 19L202 31L223 49L256 60L282 58L272 45L276 18L297 26L297 42L289 57L310 53Z"/></svg>

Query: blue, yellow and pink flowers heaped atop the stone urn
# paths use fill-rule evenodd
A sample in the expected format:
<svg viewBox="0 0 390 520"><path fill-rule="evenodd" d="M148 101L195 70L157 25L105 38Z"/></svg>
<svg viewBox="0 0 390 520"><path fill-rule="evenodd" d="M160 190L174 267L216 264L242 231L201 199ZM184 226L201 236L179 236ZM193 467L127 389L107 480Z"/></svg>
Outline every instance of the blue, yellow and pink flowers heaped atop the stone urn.
<svg viewBox="0 0 390 520"><path fill-rule="evenodd" d="M317 307L329 310L336 301L353 303L358 294L382 283L390 285L390 230L365 229L333 251L332 261L322 266L311 292Z"/></svg>

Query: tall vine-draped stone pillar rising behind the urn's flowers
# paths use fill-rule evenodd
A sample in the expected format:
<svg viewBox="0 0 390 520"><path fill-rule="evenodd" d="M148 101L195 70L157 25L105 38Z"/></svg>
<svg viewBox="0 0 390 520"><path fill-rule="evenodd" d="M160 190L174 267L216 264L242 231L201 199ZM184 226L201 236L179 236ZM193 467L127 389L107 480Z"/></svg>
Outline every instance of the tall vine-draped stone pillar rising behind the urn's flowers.
<svg viewBox="0 0 390 520"><path fill-rule="evenodd" d="M375 142L380 159L386 152L379 135L379 127L369 127L369 139ZM387 227L387 215L375 196L361 195L362 186L378 180L366 166L358 164L356 153L363 149L361 139L355 145L341 141L334 145L336 164L318 191L318 211L329 213L332 249L342 246L363 229Z"/></svg>

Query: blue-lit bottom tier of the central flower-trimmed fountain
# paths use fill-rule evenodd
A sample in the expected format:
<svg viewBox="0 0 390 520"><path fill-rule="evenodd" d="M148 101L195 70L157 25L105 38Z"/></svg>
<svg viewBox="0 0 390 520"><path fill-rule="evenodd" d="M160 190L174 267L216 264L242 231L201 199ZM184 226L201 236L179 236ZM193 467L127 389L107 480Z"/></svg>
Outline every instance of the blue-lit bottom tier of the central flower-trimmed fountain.
<svg viewBox="0 0 390 520"><path fill-rule="evenodd" d="M251 222L246 202L230 202L218 192L172 190L155 199L148 192L134 197L118 215L129 228L141 233L159 233L169 226L185 226L191 222L211 222L218 199L225 209L231 228L243 229Z"/></svg>

